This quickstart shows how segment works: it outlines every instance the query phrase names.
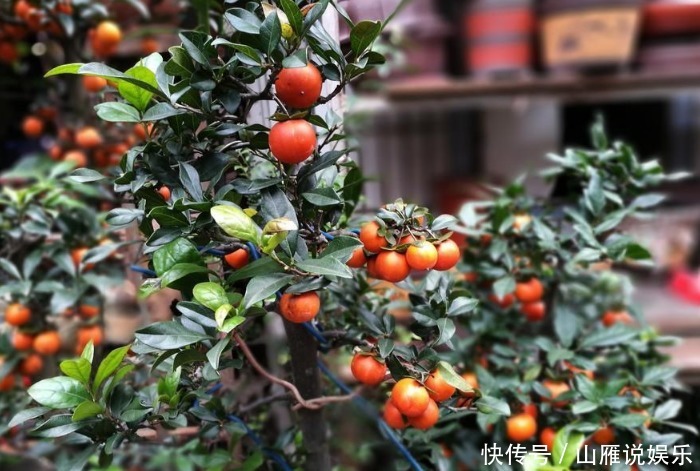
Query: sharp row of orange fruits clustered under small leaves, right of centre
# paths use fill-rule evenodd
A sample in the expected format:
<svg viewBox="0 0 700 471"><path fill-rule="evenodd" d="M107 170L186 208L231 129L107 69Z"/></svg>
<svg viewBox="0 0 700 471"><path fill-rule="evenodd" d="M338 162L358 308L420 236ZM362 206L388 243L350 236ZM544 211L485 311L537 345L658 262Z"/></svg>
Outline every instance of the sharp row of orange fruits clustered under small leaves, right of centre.
<svg viewBox="0 0 700 471"><path fill-rule="evenodd" d="M406 279L411 270L450 270L461 258L459 246L451 239L433 243L409 232L390 246L381 231L382 226L376 221L360 228L362 247L353 252L347 262L349 267L366 265L370 277L398 283Z"/></svg>

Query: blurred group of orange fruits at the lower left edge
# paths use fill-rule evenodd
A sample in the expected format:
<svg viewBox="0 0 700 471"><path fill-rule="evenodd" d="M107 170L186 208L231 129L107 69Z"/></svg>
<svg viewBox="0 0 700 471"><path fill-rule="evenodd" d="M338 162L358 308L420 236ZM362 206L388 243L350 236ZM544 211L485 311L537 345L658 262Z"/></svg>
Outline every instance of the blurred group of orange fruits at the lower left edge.
<svg viewBox="0 0 700 471"><path fill-rule="evenodd" d="M83 319L94 318L99 314L96 306L82 305L78 312ZM8 391L15 386L15 374L22 375L26 386L31 384L31 378L44 369L45 356L56 355L61 350L61 337L56 330L34 332L28 330L32 321L32 310L21 303L12 303L5 309L5 322L14 327L12 347L17 352L25 354L14 371L0 380L0 391ZM102 328L97 325L82 326L77 331L76 352L92 341L95 345L102 342Z"/></svg>

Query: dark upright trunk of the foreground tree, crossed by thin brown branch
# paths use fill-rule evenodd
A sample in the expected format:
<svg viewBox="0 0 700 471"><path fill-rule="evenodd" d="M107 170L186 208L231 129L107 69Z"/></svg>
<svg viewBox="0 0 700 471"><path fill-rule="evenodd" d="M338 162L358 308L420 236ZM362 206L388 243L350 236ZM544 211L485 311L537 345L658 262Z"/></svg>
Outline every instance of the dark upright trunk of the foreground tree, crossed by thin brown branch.
<svg viewBox="0 0 700 471"><path fill-rule="evenodd" d="M284 321L292 359L294 384L304 399L322 395L321 377L317 365L316 340L299 324ZM299 427L303 434L307 471L330 471L331 456L328 447L326 422L323 409L299 410Z"/></svg>

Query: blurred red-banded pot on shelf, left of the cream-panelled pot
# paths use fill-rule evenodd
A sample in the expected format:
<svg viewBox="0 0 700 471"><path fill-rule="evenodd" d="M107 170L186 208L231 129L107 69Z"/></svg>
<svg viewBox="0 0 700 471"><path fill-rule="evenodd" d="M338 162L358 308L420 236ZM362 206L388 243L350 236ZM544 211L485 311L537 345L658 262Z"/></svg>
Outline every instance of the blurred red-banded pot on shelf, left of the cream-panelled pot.
<svg viewBox="0 0 700 471"><path fill-rule="evenodd" d="M469 71L488 75L529 70L535 25L529 0L473 2L462 24Z"/></svg>

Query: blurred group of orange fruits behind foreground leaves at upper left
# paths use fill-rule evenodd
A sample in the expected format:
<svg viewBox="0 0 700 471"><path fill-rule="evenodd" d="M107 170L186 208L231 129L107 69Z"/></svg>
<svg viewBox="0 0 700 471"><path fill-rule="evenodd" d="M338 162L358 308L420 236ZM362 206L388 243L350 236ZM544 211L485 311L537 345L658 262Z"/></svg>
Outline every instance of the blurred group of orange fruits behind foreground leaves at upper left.
<svg viewBox="0 0 700 471"><path fill-rule="evenodd" d="M85 77L87 84L104 81L99 77ZM106 82L105 82L106 84ZM76 167L93 165L98 168L119 164L122 155L134 144L141 142L150 133L153 125L136 124L132 128L109 124L106 132L93 126L77 129L59 127L55 124L56 113L52 107L38 109L22 121L22 132L31 139L49 134L57 129L53 144L48 148L52 160L72 162Z"/></svg>

